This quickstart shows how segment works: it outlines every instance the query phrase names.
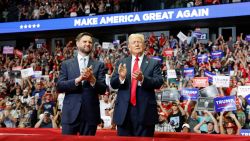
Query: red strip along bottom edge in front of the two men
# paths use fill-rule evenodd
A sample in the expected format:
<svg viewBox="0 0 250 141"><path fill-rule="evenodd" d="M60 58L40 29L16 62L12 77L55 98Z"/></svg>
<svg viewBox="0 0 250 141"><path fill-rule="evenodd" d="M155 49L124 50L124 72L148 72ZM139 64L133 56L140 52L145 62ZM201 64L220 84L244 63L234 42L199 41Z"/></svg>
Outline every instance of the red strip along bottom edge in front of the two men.
<svg viewBox="0 0 250 141"><path fill-rule="evenodd" d="M118 137L116 131L98 130L96 136L62 136L59 129L0 128L0 141L250 141L250 137L229 135L155 133L154 138Z"/></svg>

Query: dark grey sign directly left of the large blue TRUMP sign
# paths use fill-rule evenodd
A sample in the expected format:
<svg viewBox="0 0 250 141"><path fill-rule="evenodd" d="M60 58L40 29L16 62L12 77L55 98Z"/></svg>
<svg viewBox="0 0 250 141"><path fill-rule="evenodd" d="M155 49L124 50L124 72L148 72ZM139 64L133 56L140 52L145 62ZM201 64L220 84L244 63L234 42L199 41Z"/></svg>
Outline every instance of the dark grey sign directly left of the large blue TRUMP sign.
<svg viewBox="0 0 250 141"><path fill-rule="evenodd" d="M197 101L197 111L214 111L214 98L199 97Z"/></svg>

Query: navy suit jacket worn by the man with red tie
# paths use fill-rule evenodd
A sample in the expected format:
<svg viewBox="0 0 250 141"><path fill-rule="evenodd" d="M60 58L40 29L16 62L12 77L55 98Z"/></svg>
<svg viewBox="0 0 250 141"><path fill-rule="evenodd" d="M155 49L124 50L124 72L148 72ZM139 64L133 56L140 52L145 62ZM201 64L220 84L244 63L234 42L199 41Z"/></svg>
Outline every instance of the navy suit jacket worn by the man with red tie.
<svg viewBox="0 0 250 141"><path fill-rule="evenodd" d="M118 61L115 72L110 81L112 88L118 89L113 117L114 122L117 125L123 124L130 103L131 61L132 56ZM127 66L127 76L124 84L120 83L119 74L117 72L120 63L126 64ZM158 122L157 103L154 89L160 88L163 84L160 63L157 60L149 59L144 56L140 69L144 75L144 81L142 85L137 86L136 89L137 115L135 116L140 124L153 125Z"/></svg>

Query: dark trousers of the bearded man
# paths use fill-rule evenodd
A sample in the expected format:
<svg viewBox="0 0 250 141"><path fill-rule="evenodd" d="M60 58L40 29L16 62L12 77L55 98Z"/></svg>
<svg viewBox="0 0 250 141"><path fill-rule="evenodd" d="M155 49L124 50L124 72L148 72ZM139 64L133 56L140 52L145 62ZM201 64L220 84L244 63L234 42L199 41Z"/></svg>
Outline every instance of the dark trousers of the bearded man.
<svg viewBox="0 0 250 141"><path fill-rule="evenodd" d="M82 104L83 105L83 104ZM97 125L89 125L84 119L84 107L77 116L77 119L72 124L62 124L63 135L80 135L94 136L96 134Z"/></svg>

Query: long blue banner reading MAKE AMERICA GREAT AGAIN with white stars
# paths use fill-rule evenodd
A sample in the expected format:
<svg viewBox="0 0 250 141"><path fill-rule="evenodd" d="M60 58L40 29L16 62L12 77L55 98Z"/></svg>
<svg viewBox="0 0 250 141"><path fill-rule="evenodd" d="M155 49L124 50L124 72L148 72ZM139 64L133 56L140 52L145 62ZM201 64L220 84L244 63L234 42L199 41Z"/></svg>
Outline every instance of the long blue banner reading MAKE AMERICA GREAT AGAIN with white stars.
<svg viewBox="0 0 250 141"><path fill-rule="evenodd" d="M249 7L250 2L244 2L87 17L9 22L0 23L0 34L248 16L250 15Z"/></svg>

